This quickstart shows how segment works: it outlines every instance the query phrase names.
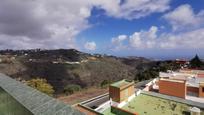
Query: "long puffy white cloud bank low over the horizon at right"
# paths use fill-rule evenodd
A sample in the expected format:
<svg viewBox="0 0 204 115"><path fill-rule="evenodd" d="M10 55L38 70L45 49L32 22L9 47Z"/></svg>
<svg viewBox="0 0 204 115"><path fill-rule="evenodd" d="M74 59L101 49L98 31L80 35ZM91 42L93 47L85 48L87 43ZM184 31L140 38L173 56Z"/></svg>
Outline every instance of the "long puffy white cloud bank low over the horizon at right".
<svg viewBox="0 0 204 115"><path fill-rule="evenodd" d="M158 28L152 26L148 31L135 32L128 36L129 44L126 49L203 49L204 48L204 28L187 31L179 34L160 33ZM124 35L125 36L125 35ZM126 35L127 36L127 35ZM118 48L120 46L115 46ZM122 50L122 49L120 49Z"/></svg>

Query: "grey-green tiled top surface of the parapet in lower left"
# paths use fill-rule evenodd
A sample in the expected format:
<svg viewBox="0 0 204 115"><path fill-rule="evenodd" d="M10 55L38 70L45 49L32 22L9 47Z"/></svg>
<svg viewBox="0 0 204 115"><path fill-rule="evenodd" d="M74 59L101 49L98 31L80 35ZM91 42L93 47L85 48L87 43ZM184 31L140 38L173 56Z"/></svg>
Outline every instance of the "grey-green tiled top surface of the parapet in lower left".
<svg viewBox="0 0 204 115"><path fill-rule="evenodd" d="M71 106L1 73L0 87L34 115L83 115Z"/></svg>

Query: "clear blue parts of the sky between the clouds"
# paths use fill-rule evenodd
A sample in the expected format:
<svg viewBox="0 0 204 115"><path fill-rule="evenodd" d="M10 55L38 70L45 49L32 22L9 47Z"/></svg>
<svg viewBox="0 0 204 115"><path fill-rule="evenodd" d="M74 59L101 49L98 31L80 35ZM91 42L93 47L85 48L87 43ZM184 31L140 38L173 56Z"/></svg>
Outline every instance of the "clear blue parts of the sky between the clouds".
<svg viewBox="0 0 204 115"><path fill-rule="evenodd" d="M161 28L157 34L162 33L175 33L180 34L182 32L188 32L185 30L182 31L173 31L171 24L167 20L162 18L165 14L174 11L176 8L182 5L191 6L195 14L199 13L201 10L204 10L204 1L202 0L175 0L170 1L170 8L161 13L152 13L148 16L139 18L139 19L121 19L110 17L105 14L105 11L102 9L94 8L89 17L89 22L93 24L93 27L86 29L81 32L77 37L86 38L89 41L94 41L97 44L96 50L93 53L108 53L117 56L144 56L152 58L191 58L195 54L199 54L201 57L204 57L203 48L143 48L143 49L121 49L119 51L113 51L110 49L111 39L118 35L131 35L134 32L141 30L149 30L151 26L156 26ZM197 28L196 28L197 29ZM204 40L204 38L203 38ZM199 42L199 41L198 41ZM127 43L124 43L128 45ZM106 47L108 46L108 47ZM85 50L87 51L87 50ZM90 52L90 51L88 51Z"/></svg>

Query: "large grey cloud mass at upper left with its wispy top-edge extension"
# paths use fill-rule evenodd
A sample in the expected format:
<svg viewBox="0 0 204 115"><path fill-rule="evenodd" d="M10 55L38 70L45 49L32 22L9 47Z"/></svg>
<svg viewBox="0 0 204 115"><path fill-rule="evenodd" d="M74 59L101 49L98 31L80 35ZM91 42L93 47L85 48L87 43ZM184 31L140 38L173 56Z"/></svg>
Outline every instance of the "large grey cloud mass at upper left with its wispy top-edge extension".
<svg viewBox="0 0 204 115"><path fill-rule="evenodd" d="M0 0L0 47L77 48L75 36L90 27L93 7L115 18L137 19L167 10L169 1Z"/></svg>

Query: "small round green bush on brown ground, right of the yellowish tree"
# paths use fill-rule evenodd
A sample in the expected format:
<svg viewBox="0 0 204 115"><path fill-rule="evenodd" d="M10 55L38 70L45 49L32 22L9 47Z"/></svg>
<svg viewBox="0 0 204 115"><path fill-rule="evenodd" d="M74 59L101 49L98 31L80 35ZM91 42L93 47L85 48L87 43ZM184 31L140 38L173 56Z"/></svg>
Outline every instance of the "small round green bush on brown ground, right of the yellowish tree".
<svg viewBox="0 0 204 115"><path fill-rule="evenodd" d="M65 86L64 93L66 95L69 95L69 94L73 94L74 92L77 92L77 91L80 91L80 90L81 90L80 85L70 84L70 85Z"/></svg>

